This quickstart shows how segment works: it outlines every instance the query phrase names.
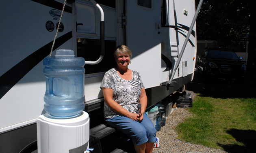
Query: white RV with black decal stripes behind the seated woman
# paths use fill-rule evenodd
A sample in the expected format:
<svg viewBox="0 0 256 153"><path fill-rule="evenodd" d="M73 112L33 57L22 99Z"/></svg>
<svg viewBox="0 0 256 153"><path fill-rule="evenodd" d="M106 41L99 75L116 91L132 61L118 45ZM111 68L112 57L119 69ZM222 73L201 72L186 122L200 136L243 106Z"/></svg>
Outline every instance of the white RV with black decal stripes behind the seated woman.
<svg viewBox="0 0 256 153"><path fill-rule="evenodd" d="M90 127L99 125L103 117L100 83L115 64L113 51L118 45L132 51L129 68L141 74L148 107L193 80L195 0L95 1L102 10L93 0L67 0L63 12L64 0L1 2L1 153L33 151L36 146L36 119L46 113L43 58L50 54L61 14L53 54L71 49L85 58L85 111ZM100 62L91 62L99 58Z"/></svg>

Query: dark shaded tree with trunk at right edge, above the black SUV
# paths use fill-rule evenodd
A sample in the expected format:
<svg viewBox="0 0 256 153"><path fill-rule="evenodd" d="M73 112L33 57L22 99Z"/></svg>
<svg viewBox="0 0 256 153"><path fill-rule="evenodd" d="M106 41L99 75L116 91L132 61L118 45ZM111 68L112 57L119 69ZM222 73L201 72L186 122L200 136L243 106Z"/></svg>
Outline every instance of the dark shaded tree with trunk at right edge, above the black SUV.
<svg viewBox="0 0 256 153"><path fill-rule="evenodd" d="M196 6L200 0L195 0ZM256 0L204 1L197 17L197 40L217 40L218 47L239 47L249 34L246 81L256 85Z"/></svg>

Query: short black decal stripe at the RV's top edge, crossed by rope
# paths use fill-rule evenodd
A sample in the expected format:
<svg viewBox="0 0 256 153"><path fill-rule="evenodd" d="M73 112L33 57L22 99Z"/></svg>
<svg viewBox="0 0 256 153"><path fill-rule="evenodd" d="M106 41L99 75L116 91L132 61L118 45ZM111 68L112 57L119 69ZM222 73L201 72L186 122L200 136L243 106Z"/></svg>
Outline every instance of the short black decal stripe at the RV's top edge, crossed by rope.
<svg viewBox="0 0 256 153"><path fill-rule="evenodd" d="M55 0L32 0L32 1L61 10L61 11L63 8L63 4L60 2L56 2ZM66 5L64 8L64 11L67 13L72 13L72 7Z"/></svg>

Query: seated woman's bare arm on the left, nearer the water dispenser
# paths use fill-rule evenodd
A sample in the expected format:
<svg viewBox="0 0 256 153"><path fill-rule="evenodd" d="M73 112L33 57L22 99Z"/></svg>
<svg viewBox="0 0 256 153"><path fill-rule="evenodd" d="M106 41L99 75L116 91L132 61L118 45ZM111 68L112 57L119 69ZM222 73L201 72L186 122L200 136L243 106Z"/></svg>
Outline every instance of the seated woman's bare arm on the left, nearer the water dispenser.
<svg viewBox="0 0 256 153"><path fill-rule="evenodd" d="M113 100L113 89L102 88L105 103L116 113L124 115L134 121L139 121L139 114L131 113ZM145 112L145 111L144 111Z"/></svg>

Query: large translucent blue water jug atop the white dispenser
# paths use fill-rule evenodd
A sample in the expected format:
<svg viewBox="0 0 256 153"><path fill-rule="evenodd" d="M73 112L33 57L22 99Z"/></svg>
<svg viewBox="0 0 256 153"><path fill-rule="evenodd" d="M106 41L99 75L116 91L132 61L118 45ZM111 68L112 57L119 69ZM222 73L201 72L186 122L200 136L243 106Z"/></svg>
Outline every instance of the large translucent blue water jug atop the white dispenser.
<svg viewBox="0 0 256 153"><path fill-rule="evenodd" d="M85 59L72 50L57 50L43 59L46 76L44 110L52 117L72 117L85 108Z"/></svg>

